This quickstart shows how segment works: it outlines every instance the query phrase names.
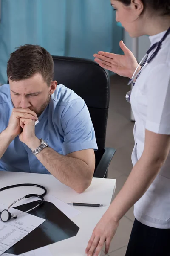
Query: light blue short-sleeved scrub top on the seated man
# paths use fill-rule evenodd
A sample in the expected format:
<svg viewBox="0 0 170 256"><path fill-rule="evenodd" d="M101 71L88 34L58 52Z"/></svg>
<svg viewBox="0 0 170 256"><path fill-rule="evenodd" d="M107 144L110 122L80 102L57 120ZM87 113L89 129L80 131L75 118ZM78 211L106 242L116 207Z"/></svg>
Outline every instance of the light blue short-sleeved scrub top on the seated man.
<svg viewBox="0 0 170 256"><path fill-rule="evenodd" d="M4 84L0 87L0 133L8 126L12 108L10 86ZM98 149L84 100L62 84L57 86L50 103L39 117L35 135L62 155L84 149ZM50 173L18 136L0 159L0 170Z"/></svg>

